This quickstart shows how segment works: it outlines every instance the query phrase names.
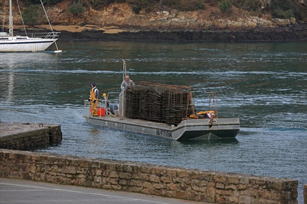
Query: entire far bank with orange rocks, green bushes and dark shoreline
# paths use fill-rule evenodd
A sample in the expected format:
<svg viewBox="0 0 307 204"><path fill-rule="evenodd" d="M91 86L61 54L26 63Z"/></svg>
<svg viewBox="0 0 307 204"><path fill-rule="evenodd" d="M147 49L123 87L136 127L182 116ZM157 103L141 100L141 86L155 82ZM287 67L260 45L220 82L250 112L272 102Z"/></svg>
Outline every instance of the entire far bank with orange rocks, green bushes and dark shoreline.
<svg viewBox="0 0 307 204"><path fill-rule="evenodd" d="M24 33L19 6L28 33L50 32L38 3L25 0L13 5L15 34ZM46 0L44 4L53 30L61 32L59 41L307 40L306 0ZM7 8L0 3L0 18L6 24Z"/></svg>

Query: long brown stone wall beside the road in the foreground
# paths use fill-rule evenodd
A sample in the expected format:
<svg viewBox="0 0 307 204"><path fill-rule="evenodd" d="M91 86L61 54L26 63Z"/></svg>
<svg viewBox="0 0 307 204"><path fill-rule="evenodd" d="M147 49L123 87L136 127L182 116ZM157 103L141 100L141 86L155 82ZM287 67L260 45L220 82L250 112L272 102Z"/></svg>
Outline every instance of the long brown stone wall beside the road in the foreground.
<svg viewBox="0 0 307 204"><path fill-rule="evenodd" d="M0 150L0 176L215 203L297 203L298 181Z"/></svg>

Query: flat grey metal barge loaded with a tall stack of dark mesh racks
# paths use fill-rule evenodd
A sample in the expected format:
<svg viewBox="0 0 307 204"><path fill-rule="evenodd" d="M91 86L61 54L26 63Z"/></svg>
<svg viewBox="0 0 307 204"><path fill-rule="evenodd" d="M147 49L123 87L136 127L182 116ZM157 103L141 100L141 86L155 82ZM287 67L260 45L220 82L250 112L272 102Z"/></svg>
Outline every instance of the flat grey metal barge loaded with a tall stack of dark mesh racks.
<svg viewBox="0 0 307 204"><path fill-rule="evenodd" d="M125 77L125 62L123 73ZM118 101L111 100L112 95ZM88 123L178 141L235 138L240 129L239 118L218 118L217 109L195 114L186 86L138 83L103 96L98 116L92 115L91 102L84 100L83 117Z"/></svg>

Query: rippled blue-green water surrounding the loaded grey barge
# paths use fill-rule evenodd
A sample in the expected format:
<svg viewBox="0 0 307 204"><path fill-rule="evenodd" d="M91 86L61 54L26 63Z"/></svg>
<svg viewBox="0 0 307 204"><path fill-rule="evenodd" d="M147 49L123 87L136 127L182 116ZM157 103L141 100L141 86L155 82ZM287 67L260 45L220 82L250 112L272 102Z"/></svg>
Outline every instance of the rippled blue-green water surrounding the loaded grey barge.
<svg viewBox="0 0 307 204"><path fill-rule="evenodd" d="M1 53L2 121L61 124L60 154L248 173L307 184L306 44L301 42L60 42L62 53ZM50 48L52 50L52 48ZM54 49L53 49L54 50ZM95 82L118 92L122 59L135 83L192 86L196 110L217 94L219 117L240 118L236 139L172 141L87 124Z"/></svg>

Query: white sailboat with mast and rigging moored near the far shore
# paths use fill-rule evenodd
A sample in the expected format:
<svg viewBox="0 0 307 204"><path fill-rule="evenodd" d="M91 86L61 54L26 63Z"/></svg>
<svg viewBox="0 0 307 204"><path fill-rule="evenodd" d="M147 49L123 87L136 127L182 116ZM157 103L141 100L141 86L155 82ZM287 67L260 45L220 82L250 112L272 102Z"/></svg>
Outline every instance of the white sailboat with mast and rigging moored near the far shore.
<svg viewBox="0 0 307 204"><path fill-rule="evenodd" d="M51 46L52 43L56 43L55 42L57 40L56 37L59 36L60 32L52 31L48 33L45 37L38 37L38 35L41 34L32 34L32 36L29 37L27 33L25 36L13 35L12 0L9 0L9 4L10 4L9 33L0 32L0 52L39 52L39 51L45 51L49 46ZM46 11L45 14L47 16ZM61 51L58 50L57 48L57 51L55 52L61 52Z"/></svg>

